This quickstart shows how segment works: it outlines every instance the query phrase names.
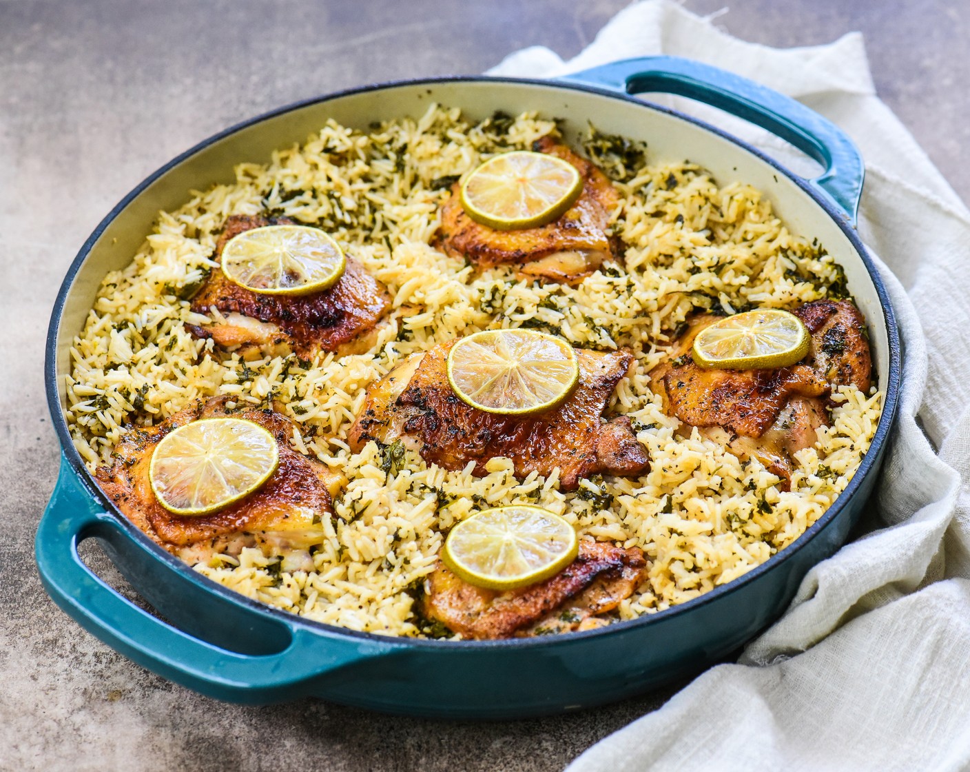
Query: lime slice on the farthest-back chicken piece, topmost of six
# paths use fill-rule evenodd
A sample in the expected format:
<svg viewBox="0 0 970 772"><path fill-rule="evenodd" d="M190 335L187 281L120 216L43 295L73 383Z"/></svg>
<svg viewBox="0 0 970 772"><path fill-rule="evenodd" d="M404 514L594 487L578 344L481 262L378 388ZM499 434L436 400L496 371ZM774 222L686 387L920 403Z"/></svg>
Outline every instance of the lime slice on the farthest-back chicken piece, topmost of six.
<svg viewBox="0 0 970 772"><path fill-rule="evenodd" d="M462 206L475 222L497 230L552 222L583 191L576 167L544 152L514 151L489 158L462 184Z"/></svg>

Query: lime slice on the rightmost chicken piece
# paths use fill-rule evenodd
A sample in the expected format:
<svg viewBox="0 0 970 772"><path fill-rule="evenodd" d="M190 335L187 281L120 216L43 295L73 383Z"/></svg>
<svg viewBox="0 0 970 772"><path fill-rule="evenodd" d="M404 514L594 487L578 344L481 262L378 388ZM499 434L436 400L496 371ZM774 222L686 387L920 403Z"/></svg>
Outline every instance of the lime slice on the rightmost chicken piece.
<svg viewBox="0 0 970 772"><path fill-rule="evenodd" d="M810 341L808 330L794 314L764 309L704 327L694 339L692 353L701 367L764 370L800 361Z"/></svg>

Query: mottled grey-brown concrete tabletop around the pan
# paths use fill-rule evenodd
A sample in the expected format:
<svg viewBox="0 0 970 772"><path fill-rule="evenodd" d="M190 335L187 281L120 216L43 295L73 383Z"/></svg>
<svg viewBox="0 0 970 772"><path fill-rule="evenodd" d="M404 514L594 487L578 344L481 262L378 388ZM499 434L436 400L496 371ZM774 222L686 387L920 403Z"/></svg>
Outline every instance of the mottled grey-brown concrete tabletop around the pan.
<svg viewBox="0 0 970 772"><path fill-rule="evenodd" d="M83 632L32 556L58 463L41 372L49 310L125 192L210 133L296 99L480 72L534 44L573 55L625 4L0 0L0 769L555 770L674 693L483 724L310 699L221 704ZM702 14L724 4L686 2ZM970 198L965 0L736 0L717 23L774 46L863 31L882 96Z"/></svg>

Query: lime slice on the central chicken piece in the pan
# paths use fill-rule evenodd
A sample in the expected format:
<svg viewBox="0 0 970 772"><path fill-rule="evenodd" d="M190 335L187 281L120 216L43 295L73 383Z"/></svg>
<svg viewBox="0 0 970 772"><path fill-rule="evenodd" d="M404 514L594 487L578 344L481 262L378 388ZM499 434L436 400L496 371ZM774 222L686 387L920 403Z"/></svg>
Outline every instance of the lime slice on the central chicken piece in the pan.
<svg viewBox="0 0 970 772"><path fill-rule="evenodd" d="M579 381L576 352L535 330L484 330L448 352L448 383L478 410L503 416L541 413L562 404Z"/></svg>

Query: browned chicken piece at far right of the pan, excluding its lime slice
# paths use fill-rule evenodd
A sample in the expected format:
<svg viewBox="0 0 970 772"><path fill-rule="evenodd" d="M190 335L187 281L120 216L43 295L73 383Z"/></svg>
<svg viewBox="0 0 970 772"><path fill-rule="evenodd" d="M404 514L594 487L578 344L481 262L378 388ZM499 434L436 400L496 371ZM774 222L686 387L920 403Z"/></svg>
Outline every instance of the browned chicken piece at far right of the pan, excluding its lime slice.
<svg viewBox="0 0 970 772"><path fill-rule="evenodd" d="M776 370L698 367L690 356L694 338L721 317L689 321L667 358L650 373L664 410L741 458L758 458L788 489L792 453L809 448L828 425L832 386L871 386L872 362L865 321L848 300L818 300L792 313L812 335L798 364Z"/></svg>

